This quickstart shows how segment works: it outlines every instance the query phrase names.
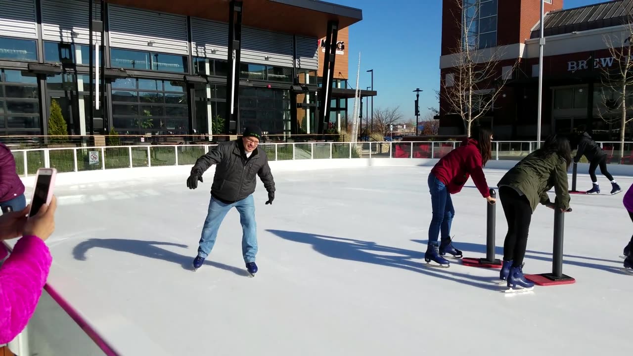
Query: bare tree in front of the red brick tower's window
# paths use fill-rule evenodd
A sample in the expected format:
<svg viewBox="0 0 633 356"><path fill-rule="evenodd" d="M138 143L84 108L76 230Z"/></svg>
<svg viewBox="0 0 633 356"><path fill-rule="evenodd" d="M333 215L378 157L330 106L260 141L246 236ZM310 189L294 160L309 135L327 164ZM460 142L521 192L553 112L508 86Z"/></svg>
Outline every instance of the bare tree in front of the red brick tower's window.
<svg viewBox="0 0 633 356"><path fill-rule="evenodd" d="M479 35L473 35L477 25L477 14L481 4L464 6L463 0L454 0L460 16L455 16L461 28L461 36L453 48L453 67L441 79L441 99L448 105L448 113L460 115L467 135L470 126L478 118L495 108L494 103L501 94L511 73L518 65L515 60L506 70L501 70L503 51L499 48L479 49Z"/></svg>

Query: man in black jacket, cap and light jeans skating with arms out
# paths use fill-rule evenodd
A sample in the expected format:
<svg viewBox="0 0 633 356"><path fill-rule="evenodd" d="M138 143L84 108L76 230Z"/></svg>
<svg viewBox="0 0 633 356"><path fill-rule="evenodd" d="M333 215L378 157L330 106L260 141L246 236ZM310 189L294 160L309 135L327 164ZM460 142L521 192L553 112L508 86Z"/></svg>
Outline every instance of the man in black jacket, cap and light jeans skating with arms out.
<svg viewBox="0 0 633 356"><path fill-rule="evenodd" d="M256 175L268 191L268 201L275 199L275 181L268 167L268 158L263 149L258 149L261 130L259 127L246 127L241 139L218 144L209 153L197 159L187 179L187 187L196 189L202 182L202 175L211 165L216 165L211 201L204 220L202 237L198 253L194 259L194 270L203 265L204 259L211 253L222 220L233 207L237 209L242 224L242 256L246 269L254 276L257 272L255 255L257 254L257 229L255 223L255 204L253 192Z"/></svg>

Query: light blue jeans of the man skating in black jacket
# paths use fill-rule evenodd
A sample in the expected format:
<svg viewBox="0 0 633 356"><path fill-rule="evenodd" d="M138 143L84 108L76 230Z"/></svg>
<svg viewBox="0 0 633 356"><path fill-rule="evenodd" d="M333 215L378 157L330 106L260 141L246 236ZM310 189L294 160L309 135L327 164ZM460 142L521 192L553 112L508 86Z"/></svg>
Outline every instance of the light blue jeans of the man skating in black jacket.
<svg viewBox="0 0 633 356"><path fill-rule="evenodd" d="M211 196L209 211L202 228L198 256L206 258L211 253L213 245L215 245L215 239L218 236L220 224L222 224L222 220L233 207L239 212L239 221L242 224L242 256L244 257L244 262L255 262L255 255L257 254L257 225L255 223L253 194L232 204L222 203L222 201L218 201Z"/></svg>

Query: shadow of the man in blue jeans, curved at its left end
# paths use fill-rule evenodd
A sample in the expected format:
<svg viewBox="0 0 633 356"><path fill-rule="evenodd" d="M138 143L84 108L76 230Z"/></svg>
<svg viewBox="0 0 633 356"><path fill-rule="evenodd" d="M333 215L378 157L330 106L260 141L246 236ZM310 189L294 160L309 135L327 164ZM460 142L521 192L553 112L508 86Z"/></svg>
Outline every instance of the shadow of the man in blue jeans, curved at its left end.
<svg viewBox="0 0 633 356"><path fill-rule="evenodd" d="M85 261L86 252L91 248L106 248L108 250L134 253L134 255L139 255L142 257L156 258L157 260L172 262L174 264L179 264L180 266L182 266L183 269L193 270L192 257L179 255L178 253L160 248L157 245L187 248L187 245L165 241L142 241L133 239L88 239L79 243L77 246L75 246L75 248L73 248L73 257L75 257L75 260ZM239 276L248 276L248 272L246 272L246 270L239 269L230 265L221 264L220 262L206 260L204 261L204 265L227 270Z"/></svg>

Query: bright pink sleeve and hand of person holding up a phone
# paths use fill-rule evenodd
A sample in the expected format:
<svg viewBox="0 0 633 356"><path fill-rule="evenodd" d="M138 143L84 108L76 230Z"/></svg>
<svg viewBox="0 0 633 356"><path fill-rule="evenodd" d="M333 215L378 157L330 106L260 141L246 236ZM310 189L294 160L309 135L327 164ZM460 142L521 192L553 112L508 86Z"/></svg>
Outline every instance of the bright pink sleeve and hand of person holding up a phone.
<svg viewBox="0 0 633 356"><path fill-rule="evenodd" d="M0 240L23 236L0 266L0 345L22 332L42 295L52 262L44 241L55 228L56 207L53 197L51 205L42 205L37 215L28 220L28 207L0 216ZM0 241L0 260L5 255Z"/></svg>

